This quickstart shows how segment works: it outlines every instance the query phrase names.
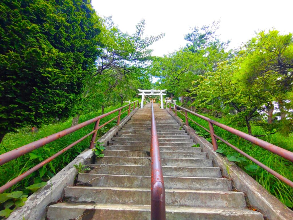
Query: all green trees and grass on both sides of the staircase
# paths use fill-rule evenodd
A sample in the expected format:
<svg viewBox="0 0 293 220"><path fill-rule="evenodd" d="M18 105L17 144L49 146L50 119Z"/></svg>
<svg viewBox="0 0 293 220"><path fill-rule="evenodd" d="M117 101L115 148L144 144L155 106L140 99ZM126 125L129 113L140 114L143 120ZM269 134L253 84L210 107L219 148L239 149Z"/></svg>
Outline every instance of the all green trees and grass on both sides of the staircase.
<svg viewBox="0 0 293 220"><path fill-rule="evenodd" d="M195 26L185 35L185 47L156 57L149 46L164 34L145 36L144 20L137 23L134 33L127 33L111 17L100 17L91 1L1 1L0 153L116 109L137 99L137 89L166 89L167 96L180 97L180 105L186 108L293 151L292 33L259 31L239 48L228 50L230 42L217 35L219 25L214 21ZM154 77L159 79L152 83ZM208 127L201 119L193 120ZM115 121L100 129L98 137L114 125ZM210 141L208 133L190 125ZM1 185L92 129L93 125L87 126L1 165ZM293 180L293 164L288 160L220 128L215 131ZM22 206L30 193L88 145L86 138L0 194L0 216L7 217ZM291 187L221 141L218 145L219 153L293 207Z"/></svg>

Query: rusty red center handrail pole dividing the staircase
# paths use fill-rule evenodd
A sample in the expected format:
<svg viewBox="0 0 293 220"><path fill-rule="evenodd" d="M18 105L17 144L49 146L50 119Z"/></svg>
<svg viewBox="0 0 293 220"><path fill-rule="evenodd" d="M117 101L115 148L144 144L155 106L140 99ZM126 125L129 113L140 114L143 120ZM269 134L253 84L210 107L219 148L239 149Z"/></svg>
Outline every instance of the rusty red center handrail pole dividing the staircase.
<svg viewBox="0 0 293 220"><path fill-rule="evenodd" d="M166 220L165 186L153 100L151 101L151 220Z"/></svg>

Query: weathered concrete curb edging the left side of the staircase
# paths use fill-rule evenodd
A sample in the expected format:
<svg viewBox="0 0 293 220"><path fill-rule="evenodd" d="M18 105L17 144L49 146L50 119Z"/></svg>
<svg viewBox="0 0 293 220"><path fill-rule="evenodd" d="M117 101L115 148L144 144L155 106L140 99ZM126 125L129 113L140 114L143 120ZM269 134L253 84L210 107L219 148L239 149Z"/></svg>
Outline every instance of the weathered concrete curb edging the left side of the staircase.
<svg viewBox="0 0 293 220"><path fill-rule="evenodd" d="M107 133L105 133L98 142L107 144L107 141L120 130L122 126L132 117L138 110L136 108L129 116L124 117L118 126L114 126ZM65 146L64 146L65 147ZM40 220L45 219L47 213L47 206L54 204L64 195L64 189L67 186L74 184L74 178L77 174L74 164L90 164L93 158L93 150L86 149L78 155L71 163L58 172L47 185L34 192L23 207L13 211L7 220Z"/></svg>

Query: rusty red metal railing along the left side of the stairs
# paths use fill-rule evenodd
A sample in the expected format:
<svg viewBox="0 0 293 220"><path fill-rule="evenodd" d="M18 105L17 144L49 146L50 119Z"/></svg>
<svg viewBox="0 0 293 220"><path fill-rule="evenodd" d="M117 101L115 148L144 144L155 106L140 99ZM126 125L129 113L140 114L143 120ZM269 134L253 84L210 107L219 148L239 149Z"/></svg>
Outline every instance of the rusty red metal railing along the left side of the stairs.
<svg viewBox="0 0 293 220"><path fill-rule="evenodd" d="M93 131L91 131L90 133L88 133L87 135L83 136L82 138L78 139L77 141L75 141L74 143L68 145L67 147L65 147L63 150L60 150L59 152L57 152L56 154L52 155L51 157L47 158L46 160L43 160L41 163L39 163L38 165L32 167L31 169L29 169L28 171L22 173L21 175L19 175L18 177L14 178L13 180L7 182L5 185L0 187L0 193L3 193L6 189L12 187L13 185L15 185L16 183L18 183L19 181L21 181L23 178L27 177L28 175L32 174L34 171L38 170L39 168L41 168L42 166L44 166L45 164L49 163L50 161L52 161L54 158L56 158L57 156L61 155L62 153L64 153L65 151L69 150L70 148L72 148L74 145L78 144L79 142L81 142L82 140L84 140L85 138L87 138L88 136L90 136L92 134L92 138L91 138L91 143L89 148L92 149L94 147L95 141L96 141L96 136L97 136L97 132L100 128L102 128L103 126L105 126L106 124L108 124L109 122L113 121L114 119L117 118L117 125L119 125L120 123L120 116L121 114L125 113L126 111L128 111L128 115L130 114L130 110L132 108L132 104L133 104L133 110L135 109L135 106L137 105L139 107L139 101L134 101L132 103L129 103L128 105L122 106L118 109L115 109L113 111L110 111L108 113L105 113L103 115L97 116L93 119L90 119L88 121L85 121L83 123L77 124L75 126L72 126L71 128L67 128L64 129L63 131L59 131L55 134L52 134L50 136L47 136L45 138L42 138L38 141L34 141L32 143L23 145L22 147L16 148L14 150L8 151L4 154L0 155L0 165L3 165L11 160L14 160L26 153L29 153L35 149L38 149L42 146L44 146L47 143L50 143L52 141L55 141L67 134L70 134L74 131L79 130L80 128L83 128L93 122L95 122L95 126ZM128 107L128 109L126 109L125 111L121 112L122 109ZM99 126L100 123L100 119L105 118L106 116L109 116L115 112L118 111L118 115L116 117L114 117L113 119L110 119L109 121L107 121L106 123L102 124Z"/></svg>

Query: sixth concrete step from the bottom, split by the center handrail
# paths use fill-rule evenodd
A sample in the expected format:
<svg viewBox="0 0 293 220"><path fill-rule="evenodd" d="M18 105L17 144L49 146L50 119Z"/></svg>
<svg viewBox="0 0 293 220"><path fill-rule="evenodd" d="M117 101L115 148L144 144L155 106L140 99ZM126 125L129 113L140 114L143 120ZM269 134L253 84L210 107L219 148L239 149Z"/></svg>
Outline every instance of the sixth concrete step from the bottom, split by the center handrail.
<svg viewBox="0 0 293 220"><path fill-rule="evenodd" d="M104 150L103 154L108 157L150 157L149 151L125 151L125 150ZM161 158L201 158L206 159L205 152L160 152Z"/></svg>

